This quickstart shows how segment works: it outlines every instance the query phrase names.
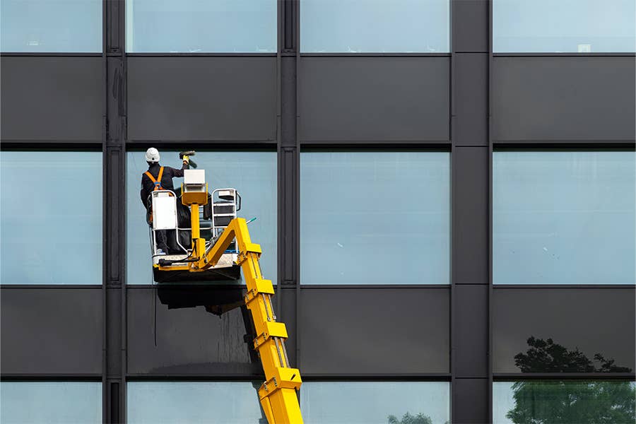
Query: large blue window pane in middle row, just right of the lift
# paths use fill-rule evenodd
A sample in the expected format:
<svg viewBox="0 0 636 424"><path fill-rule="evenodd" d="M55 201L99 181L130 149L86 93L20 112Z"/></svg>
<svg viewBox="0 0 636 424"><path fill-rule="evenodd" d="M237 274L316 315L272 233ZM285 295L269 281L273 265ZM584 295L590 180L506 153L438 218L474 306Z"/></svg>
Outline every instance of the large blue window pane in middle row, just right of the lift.
<svg viewBox="0 0 636 424"><path fill-rule="evenodd" d="M447 152L300 154L302 284L448 284Z"/></svg>

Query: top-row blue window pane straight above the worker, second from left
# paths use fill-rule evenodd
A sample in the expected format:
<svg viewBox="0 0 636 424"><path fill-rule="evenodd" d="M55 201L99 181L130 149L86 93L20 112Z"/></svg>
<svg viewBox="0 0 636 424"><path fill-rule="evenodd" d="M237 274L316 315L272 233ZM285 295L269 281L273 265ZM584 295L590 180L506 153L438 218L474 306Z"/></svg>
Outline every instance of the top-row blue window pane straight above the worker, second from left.
<svg viewBox="0 0 636 424"><path fill-rule="evenodd" d="M126 52L276 52L276 0L126 1Z"/></svg>

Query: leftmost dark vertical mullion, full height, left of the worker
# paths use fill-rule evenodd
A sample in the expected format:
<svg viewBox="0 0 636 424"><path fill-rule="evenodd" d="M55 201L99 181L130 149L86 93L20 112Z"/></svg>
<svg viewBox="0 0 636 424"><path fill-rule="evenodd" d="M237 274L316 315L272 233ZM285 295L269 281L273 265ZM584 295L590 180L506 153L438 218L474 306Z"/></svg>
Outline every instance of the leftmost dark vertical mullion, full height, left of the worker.
<svg viewBox="0 0 636 424"><path fill-rule="evenodd" d="M103 131L104 181L104 370L102 418L105 423L124 420L124 129L125 56L124 1L103 0L103 72L105 112Z"/></svg>

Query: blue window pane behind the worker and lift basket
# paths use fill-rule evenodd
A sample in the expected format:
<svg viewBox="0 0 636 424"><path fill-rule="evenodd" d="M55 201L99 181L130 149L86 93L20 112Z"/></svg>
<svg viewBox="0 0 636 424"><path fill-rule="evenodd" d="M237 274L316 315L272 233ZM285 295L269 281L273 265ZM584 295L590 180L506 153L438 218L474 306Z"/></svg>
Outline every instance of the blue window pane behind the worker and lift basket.
<svg viewBox="0 0 636 424"><path fill-rule="evenodd" d="M126 160L126 269L128 284L152 284L150 236L146 208L141 204L141 175L148 170L145 151L131 151ZM178 151L160 150L161 165L181 167ZM261 245L261 269L265 278L276 281L277 184L276 152L196 151L192 158L206 171L210 191L234 187L242 197L238 216L247 220L252 242ZM175 178L175 187L183 179Z"/></svg>

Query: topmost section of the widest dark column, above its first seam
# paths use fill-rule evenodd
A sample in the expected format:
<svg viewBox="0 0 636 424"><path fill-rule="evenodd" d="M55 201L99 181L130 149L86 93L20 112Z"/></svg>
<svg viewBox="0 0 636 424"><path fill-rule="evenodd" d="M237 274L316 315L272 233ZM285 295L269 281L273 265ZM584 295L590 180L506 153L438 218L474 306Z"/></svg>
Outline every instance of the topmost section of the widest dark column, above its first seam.
<svg viewBox="0 0 636 424"><path fill-rule="evenodd" d="M488 0L452 0L453 52L488 52Z"/></svg>

